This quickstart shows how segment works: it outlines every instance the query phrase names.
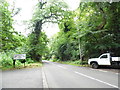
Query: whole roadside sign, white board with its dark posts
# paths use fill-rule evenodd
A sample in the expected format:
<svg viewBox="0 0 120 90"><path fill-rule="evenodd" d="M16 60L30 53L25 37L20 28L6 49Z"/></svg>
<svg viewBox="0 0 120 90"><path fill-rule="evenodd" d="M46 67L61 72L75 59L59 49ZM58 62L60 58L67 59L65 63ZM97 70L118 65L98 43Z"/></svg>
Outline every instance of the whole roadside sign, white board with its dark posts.
<svg viewBox="0 0 120 90"><path fill-rule="evenodd" d="M24 67L25 67L25 59L26 59L26 54L15 54L13 56L13 67L15 68L15 61L16 60L20 60L22 59L23 61L21 63L24 63Z"/></svg>

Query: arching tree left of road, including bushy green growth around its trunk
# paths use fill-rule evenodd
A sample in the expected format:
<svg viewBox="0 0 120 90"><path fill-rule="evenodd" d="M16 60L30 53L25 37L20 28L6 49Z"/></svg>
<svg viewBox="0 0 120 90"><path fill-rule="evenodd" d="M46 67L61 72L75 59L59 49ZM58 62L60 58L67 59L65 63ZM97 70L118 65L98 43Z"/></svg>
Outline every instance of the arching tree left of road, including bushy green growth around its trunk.
<svg viewBox="0 0 120 90"><path fill-rule="evenodd" d="M66 4L60 0L50 0L48 2L39 2L36 5L30 28L33 30L30 35L29 55L33 60L41 61L41 58L48 55L47 37L42 32L42 26L46 22L57 23L66 13ZM47 56L49 58L49 56Z"/></svg>

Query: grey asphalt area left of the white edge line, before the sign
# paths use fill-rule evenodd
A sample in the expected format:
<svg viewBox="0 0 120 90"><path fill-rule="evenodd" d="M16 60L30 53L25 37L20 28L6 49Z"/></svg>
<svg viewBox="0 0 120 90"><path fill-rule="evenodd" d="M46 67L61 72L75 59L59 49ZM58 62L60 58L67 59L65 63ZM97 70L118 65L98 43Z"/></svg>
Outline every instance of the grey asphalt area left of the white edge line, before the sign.
<svg viewBox="0 0 120 90"><path fill-rule="evenodd" d="M2 88L42 88L41 68L3 71Z"/></svg>

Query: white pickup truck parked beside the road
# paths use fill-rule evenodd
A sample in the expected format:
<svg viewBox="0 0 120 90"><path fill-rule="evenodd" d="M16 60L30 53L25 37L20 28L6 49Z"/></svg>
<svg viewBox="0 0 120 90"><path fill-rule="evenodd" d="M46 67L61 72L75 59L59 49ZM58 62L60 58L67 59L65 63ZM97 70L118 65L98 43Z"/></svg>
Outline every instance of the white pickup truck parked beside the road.
<svg viewBox="0 0 120 90"><path fill-rule="evenodd" d="M110 53L104 53L98 58L89 59L88 64L95 69L97 69L101 65L120 66L120 57L112 57Z"/></svg>

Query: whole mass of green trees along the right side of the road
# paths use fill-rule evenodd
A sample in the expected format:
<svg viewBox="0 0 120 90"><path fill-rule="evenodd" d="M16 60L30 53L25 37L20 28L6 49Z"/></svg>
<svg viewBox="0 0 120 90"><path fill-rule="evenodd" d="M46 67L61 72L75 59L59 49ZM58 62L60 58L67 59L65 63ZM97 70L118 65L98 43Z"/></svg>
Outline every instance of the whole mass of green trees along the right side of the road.
<svg viewBox="0 0 120 90"><path fill-rule="evenodd" d="M75 60L77 64L86 64L88 58L106 52L120 56L119 10L120 2L80 3L76 11L69 12L70 16L59 23L60 32L50 43L51 56L61 61ZM76 61L80 52L85 61Z"/></svg>

